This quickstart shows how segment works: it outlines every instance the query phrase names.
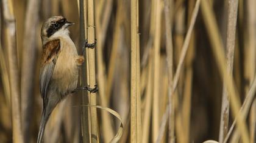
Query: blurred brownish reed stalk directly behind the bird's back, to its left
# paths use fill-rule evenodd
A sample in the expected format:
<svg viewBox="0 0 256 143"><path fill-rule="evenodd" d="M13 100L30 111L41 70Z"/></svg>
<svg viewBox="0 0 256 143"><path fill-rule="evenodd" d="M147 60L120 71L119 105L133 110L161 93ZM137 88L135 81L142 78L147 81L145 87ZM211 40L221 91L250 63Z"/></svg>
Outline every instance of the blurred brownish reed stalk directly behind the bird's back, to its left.
<svg viewBox="0 0 256 143"><path fill-rule="evenodd" d="M25 33L23 40L23 61L21 67L21 115L24 142L29 142L31 112L34 103L35 68L37 60L37 24L40 1L27 2ZM29 54L29 56L28 56Z"/></svg>

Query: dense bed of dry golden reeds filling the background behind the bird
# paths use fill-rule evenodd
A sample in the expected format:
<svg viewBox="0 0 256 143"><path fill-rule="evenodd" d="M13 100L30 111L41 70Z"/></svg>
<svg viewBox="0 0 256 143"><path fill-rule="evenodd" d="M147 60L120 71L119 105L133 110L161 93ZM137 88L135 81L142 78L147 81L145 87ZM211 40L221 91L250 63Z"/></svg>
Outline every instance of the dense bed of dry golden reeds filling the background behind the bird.
<svg viewBox="0 0 256 143"><path fill-rule="evenodd" d="M88 3L0 2L0 142L35 142L41 25L53 15L75 22L70 35L81 53L81 39L94 39L81 34L88 25L80 25L79 5ZM255 7L255 0L94 0L97 104L121 115L119 142L256 142ZM55 108L44 142L91 141L82 137L85 96ZM98 110L98 142L109 142L118 125Z"/></svg>

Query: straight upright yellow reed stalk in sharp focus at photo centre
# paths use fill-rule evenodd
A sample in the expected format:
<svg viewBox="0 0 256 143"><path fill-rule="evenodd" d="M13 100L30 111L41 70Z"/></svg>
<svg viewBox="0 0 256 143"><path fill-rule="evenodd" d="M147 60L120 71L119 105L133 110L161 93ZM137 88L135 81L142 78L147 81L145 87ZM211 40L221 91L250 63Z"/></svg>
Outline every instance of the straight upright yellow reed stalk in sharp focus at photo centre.
<svg viewBox="0 0 256 143"><path fill-rule="evenodd" d="M140 80L140 55L138 55L138 1L131 1L131 75L130 75L130 142L141 142L141 115L140 115L140 96L138 89L138 80Z"/></svg>

